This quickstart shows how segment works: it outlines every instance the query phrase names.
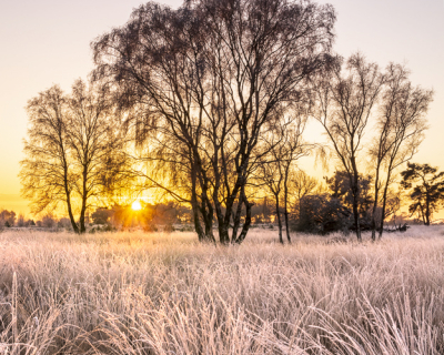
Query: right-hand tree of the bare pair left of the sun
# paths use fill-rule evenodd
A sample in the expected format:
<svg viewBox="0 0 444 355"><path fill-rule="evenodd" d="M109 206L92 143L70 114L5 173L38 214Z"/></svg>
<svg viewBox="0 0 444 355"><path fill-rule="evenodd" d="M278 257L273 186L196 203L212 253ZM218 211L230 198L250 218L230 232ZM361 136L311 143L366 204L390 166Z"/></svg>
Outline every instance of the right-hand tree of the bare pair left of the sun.
<svg viewBox="0 0 444 355"><path fill-rule="evenodd" d="M73 170L74 191L81 200L80 233L85 232L85 212L105 192L128 183L130 163L125 153L125 131L113 115L113 101L107 85L78 80L68 99L67 133ZM103 203L100 203L103 205Z"/></svg>

